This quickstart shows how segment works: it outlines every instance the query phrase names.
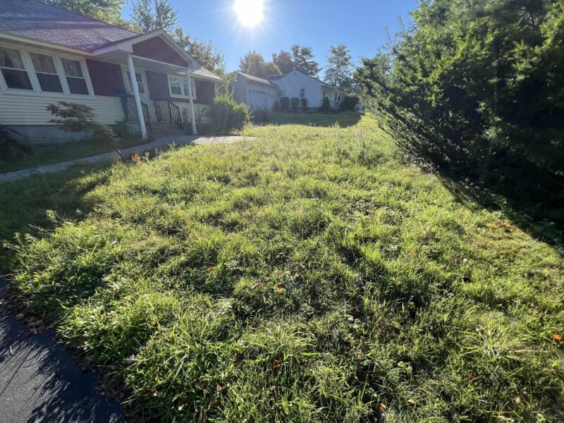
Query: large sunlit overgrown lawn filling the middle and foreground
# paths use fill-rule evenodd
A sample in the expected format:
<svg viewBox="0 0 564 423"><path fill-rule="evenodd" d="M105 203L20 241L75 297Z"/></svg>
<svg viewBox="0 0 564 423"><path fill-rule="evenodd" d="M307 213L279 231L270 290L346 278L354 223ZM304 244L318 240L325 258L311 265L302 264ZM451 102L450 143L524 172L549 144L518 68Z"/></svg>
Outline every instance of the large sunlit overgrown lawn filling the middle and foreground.
<svg viewBox="0 0 564 423"><path fill-rule="evenodd" d="M367 116L246 135L83 176L90 212L16 247L17 286L136 419L563 421L556 250Z"/></svg>

